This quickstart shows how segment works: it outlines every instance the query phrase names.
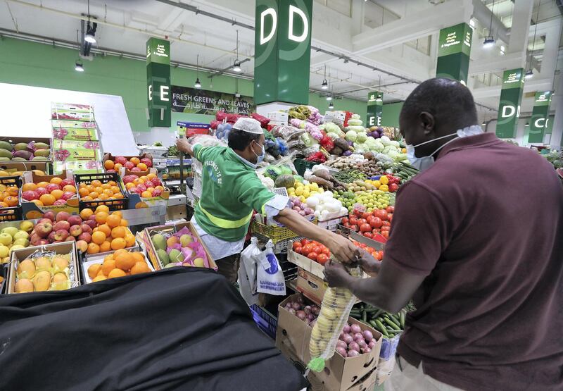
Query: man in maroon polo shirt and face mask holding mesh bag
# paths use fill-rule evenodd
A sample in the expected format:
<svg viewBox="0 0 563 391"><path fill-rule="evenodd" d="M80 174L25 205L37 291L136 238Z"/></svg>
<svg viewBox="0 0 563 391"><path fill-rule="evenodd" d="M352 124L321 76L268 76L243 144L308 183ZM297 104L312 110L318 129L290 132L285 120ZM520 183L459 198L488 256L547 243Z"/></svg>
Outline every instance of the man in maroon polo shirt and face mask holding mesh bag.
<svg viewBox="0 0 563 391"><path fill-rule="evenodd" d="M381 266L325 268L387 311L414 300L386 390L563 390L563 186L477 123L459 82L419 85L400 128L423 171L397 194Z"/></svg>

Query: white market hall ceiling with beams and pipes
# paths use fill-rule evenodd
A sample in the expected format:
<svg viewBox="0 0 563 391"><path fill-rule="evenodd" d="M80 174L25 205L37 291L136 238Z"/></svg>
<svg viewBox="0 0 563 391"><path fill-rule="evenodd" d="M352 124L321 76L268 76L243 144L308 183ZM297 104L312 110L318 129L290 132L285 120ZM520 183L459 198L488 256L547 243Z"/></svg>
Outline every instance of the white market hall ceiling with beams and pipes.
<svg viewBox="0 0 563 391"><path fill-rule="evenodd" d="M491 8L492 0L483 2ZM182 3L254 25L253 0L182 0ZM387 73L352 62L345 63L343 59L312 50L310 88L320 90L326 66L327 79L335 93L366 100L369 88L379 88L385 93L385 101L405 99L416 84L396 84L404 81L397 76L417 81L434 76L438 31L448 25L469 22L476 3L479 0L446 0L438 5L427 0L315 0L312 45L349 56ZM540 0L533 3L530 18L535 20ZM557 30L558 38L562 18L555 1L541 0L540 7L538 31ZM511 0L495 1L495 16L507 27L509 34L512 8ZM0 0L0 29L4 33L17 30L22 34L77 42L81 14L87 14L87 0ZM239 30L239 58L251 58L251 61L243 63L243 75L251 77L253 74L253 30L196 15L156 0L91 0L90 14L99 21L96 33L99 48L142 56L148 37L167 36L172 42L172 62L195 66L199 55L199 65L204 68L222 69L232 65L236 58L236 30ZM368 27L365 23L375 27ZM529 29L529 46L534 27L532 25ZM491 75L502 75L503 69L524 66L527 56L524 50L501 56L500 45L507 46L508 42L500 41L495 49L484 51L481 41L487 32L488 20L476 20L469 70L473 77L469 80L469 87L474 90L479 104L496 108L500 87L488 82L488 79L495 79ZM539 68L540 51L543 50L539 37L536 38L535 49ZM550 70L551 75L535 70L538 75L532 82L526 83L527 88L551 89L555 66ZM486 82L481 81L485 79ZM386 87L379 87L381 85ZM523 111L528 109L526 105L530 106L525 103ZM490 116L493 116L493 111Z"/></svg>

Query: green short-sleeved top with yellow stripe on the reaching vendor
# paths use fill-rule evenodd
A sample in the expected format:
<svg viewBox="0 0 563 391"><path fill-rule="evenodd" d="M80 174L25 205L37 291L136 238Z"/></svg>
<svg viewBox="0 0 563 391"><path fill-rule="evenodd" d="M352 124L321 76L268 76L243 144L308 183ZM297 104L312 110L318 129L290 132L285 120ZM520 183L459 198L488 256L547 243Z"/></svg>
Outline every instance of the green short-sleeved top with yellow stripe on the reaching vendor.
<svg viewBox="0 0 563 391"><path fill-rule="evenodd" d="M246 236L253 210L264 213L274 194L262 185L254 168L227 147L194 147L201 161L201 199L196 221L205 232L227 242Z"/></svg>

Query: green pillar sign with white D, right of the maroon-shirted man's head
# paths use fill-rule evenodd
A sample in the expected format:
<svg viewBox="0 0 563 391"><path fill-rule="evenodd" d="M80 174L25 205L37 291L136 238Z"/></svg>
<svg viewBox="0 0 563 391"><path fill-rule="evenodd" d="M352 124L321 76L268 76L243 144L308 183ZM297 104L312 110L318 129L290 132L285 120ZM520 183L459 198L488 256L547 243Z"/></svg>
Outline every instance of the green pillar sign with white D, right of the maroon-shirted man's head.
<svg viewBox="0 0 563 391"><path fill-rule="evenodd" d="M524 91L524 69L505 70L498 104L496 135L501 139L514 138L520 117L520 103Z"/></svg>

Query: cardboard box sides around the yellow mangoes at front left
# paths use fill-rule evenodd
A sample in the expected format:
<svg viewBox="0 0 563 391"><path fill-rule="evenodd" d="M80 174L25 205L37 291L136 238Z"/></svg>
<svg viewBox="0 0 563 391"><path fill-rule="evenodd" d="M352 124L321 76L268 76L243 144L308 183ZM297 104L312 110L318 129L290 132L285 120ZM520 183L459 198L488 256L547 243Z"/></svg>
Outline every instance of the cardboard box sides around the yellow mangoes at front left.
<svg viewBox="0 0 563 391"><path fill-rule="evenodd" d="M70 253L70 265L72 266L71 279L72 287L77 287L81 285L80 283L80 272L78 270L77 253L75 242L63 242L63 243L53 243L45 244L44 246L34 246L27 247L25 249L14 250L11 254L10 266L8 269L8 289L6 293L14 293L15 288L15 278L17 274L18 265L20 261L23 261L28 256L37 251L53 251L56 254L69 254Z"/></svg>

